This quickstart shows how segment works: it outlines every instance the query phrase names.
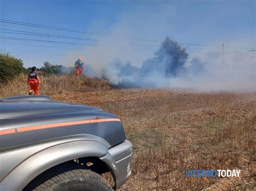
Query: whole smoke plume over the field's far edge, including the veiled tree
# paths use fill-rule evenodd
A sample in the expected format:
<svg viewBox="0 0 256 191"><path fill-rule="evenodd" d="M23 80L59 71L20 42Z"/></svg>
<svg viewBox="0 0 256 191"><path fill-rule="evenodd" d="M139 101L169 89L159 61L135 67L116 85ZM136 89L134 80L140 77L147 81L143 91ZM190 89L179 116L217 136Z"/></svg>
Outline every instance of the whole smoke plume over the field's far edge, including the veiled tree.
<svg viewBox="0 0 256 191"><path fill-rule="evenodd" d="M117 18L106 30L109 36L98 37L98 41L92 46L69 52L62 63L72 66L82 56L86 66L91 69L90 73L120 87L255 90L256 54L248 49L221 51L221 48L213 50L196 47L201 48L199 53L202 54L193 54L191 47L195 46L184 46L176 42L177 45L172 47L179 48L169 47L169 52L159 52L166 36L173 37L174 43L175 40L193 42L193 37L198 39L202 36L202 39L214 38L214 41L203 41L203 44L221 45L225 40L225 43L238 47L255 47L255 34L242 36L241 33L239 37L221 36L219 39L218 36L213 37L214 34L205 32L207 19L200 18L200 25L192 25L193 19L183 24L184 20L190 21L190 18L186 14L180 15L177 12L179 9L182 6L137 6ZM104 22L95 20L95 23ZM97 31L97 27L93 25L91 31ZM197 32L192 34L188 27ZM176 35L173 36L173 33ZM187 34L190 34L190 39ZM218 42L215 39L219 39Z"/></svg>

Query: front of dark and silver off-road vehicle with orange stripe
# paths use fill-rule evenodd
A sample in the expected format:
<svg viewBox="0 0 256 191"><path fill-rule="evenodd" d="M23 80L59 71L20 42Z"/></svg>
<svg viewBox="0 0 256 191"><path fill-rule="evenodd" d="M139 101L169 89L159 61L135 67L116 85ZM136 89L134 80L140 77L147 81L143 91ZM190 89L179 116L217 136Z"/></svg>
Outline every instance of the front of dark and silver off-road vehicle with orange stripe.
<svg viewBox="0 0 256 191"><path fill-rule="evenodd" d="M0 190L112 190L131 174L132 144L113 114L47 96L0 99Z"/></svg>

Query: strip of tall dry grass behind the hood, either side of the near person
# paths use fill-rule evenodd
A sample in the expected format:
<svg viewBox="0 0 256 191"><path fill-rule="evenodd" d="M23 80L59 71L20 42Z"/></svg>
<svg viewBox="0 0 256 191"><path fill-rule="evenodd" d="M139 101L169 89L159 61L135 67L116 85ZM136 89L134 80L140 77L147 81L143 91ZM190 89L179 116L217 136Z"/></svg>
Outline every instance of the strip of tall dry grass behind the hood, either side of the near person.
<svg viewBox="0 0 256 191"><path fill-rule="evenodd" d="M14 80L0 85L0 97L27 95L29 86L27 75L21 74ZM71 74L41 76L42 86L39 94L51 95L63 92L82 92L110 89L109 82L96 77L84 75L74 76Z"/></svg>

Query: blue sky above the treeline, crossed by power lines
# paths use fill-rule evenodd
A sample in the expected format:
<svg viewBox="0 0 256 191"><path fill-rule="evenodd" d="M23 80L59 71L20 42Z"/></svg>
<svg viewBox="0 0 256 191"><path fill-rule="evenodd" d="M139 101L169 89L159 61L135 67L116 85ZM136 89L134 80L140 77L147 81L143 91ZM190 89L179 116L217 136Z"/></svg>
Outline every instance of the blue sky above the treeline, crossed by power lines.
<svg viewBox="0 0 256 191"><path fill-rule="evenodd" d="M0 46L24 61L25 67L43 65L44 61L72 65L79 56L92 65L102 65L114 58L140 65L160 43L131 40L129 37L163 40L170 36L181 43L255 48L255 1L24 1L0 0L0 19L63 27L92 34L59 31L59 35L89 38L84 41L3 33L1 37L51 40L71 45L38 41L1 39ZM1 23L1 29L49 33L57 30ZM132 45L136 44L136 45ZM38 46L39 45L39 46ZM149 45L149 46L145 46ZM48 46L48 47L45 47ZM51 47L49 47L51 46ZM191 55L219 48L188 46ZM70 49L68 49L70 48ZM235 51L248 51L248 49ZM231 49L226 48L225 51ZM53 55L54 54L54 55Z"/></svg>

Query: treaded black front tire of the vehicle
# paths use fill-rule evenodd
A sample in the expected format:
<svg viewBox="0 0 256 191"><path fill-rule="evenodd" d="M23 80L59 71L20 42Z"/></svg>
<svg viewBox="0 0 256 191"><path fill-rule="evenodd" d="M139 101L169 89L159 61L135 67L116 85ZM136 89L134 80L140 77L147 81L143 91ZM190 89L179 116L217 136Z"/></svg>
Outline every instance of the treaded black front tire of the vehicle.
<svg viewBox="0 0 256 191"><path fill-rule="evenodd" d="M73 169L54 176L33 190L113 190L99 174L87 169Z"/></svg>

